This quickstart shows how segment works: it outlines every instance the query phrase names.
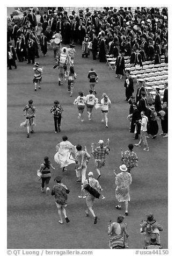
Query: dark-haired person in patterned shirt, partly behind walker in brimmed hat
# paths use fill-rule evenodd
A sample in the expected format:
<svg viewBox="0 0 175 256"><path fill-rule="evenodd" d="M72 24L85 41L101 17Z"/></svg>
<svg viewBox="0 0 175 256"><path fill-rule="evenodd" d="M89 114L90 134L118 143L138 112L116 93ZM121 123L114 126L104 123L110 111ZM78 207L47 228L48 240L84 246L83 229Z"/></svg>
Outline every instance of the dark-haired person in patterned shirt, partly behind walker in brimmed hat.
<svg viewBox="0 0 175 256"><path fill-rule="evenodd" d="M126 165L128 168L128 173L130 173L130 170L137 166L138 157L136 153L133 151L133 144L129 144L128 148L129 150L125 151L122 156L121 160L123 162L123 165Z"/></svg>

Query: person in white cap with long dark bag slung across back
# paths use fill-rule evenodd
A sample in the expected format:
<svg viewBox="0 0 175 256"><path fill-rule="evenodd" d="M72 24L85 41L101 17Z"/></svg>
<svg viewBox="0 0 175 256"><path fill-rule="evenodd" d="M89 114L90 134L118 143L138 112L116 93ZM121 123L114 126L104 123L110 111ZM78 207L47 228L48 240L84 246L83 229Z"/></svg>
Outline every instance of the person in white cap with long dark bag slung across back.
<svg viewBox="0 0 175 256"><path fill-rule="evenodd" d="M98 191L102 191L103 189L101 188L98 180L94 179L93 177L93 173L92 172L89 172L88 173L88 176L89 176L89 179L85 180L84 181L84 184L82 186L82 191L85 190L84 187L86 184L90 184L91 187L93 187L94 189L98 190ZM87 190L85 190L85 194L86 194L86 205L88 207L88 209L86 210L86 217L89 216L89 212L91 212L93 218L94 218L94 224L97 224L97 216L94 214L94 211L92 209L93 207L93 204L94 204L94 200L95 200L95 197L90 194Z"/></svg>

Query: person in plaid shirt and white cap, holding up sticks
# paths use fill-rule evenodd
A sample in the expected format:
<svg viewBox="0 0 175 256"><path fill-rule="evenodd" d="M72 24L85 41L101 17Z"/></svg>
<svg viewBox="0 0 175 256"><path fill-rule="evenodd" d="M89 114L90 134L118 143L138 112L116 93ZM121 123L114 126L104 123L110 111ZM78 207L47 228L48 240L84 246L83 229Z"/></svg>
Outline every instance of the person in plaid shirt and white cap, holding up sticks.
<svg viewBox="0 0 175 256"><path fill-rule="evenodd" d="M109 154L108 148L104 147L104 141L100 139L98 143L100 144L100 146L96 147L96 149L93 152L93 156L96 161L97 173L98 173L97 179L99 179L101 176L100 174L101 167L105 166L105 155Z"/></svg>

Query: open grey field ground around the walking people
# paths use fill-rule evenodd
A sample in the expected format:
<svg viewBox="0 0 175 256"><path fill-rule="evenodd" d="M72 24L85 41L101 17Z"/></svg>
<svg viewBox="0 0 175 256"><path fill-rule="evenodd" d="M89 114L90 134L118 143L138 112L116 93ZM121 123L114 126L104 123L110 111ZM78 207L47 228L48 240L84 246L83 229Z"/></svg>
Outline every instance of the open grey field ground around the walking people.
<svg viewBox="0 0 175 256"><path fill-rule="evenodd" d="M124 101L124 79L115 78L114 71L105 63L81 58L81 46L76 46L74 94L67 94L67 82L57 86L57 70L53 69L54 58L51 49L47 56L36 59L43 66L41 90L34 91L32 83L33 65L17 61L17 70L8 70L8 248L108 248L107 223L115 221L118 214L125 210L115 209L115 176L119 172L120 147L127 150L129 143L136 143L133 134L129 133L127 115L129 104ZM102 98L104 92L110 97L112 106L108 114L109 129L101 124L101 113L93 110L92 120L79 122L74 99L78 91L88 94L88 71L93 67L98 76L97 97ZM136 92L136 89L135 89ZM26 130L20 128L25 117L23 108L28 99L33 99L37 108L34 134L26 138ZM61 133L54 133L54 122L50 108L55 99L63 106ZM158 122L159 133L161 123ZM102 170L100 184L104 189L105 200L96 200L94 211L99 217L93 224L93 218L85 216L85 200L78 198L80 184L76 183L75 166L70 165L66 173L54 162L55 146L66 134L72 144L86 144L91 152L91 142L97 144L99 139L110 138L110 155L106 157L106 165ZM143 236L140 235L140 223L145 214L153 212L155 218L163 225L161 232L163 248L168 247L167 237L167 138L157 136L149 139L149 152L134 147L138 155L138 167L132 172L133 183L130 186L129 215L125 218L129 232L129 248L143 248ZM57 223L58 215L54 198L42 194L36 170L43 157L48 155L56 167L52 172L50 188L54 185L57 174L63 176L63 183L70 189L68 195L67 215L70 223ZM96 175L94 159L91 158L88 170Z"/></svg>

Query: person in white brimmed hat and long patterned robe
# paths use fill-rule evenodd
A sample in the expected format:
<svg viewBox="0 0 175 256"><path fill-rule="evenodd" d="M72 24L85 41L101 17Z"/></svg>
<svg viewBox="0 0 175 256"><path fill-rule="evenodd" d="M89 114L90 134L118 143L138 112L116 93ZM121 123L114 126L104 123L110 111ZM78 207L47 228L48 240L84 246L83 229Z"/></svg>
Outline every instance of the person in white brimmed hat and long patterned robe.
<svg viewBox="0 0 175 256"><path fill-rule="evenodd" d="M121 210L121 202L125 202L125 215L128 215L128 201L130 201L129 186L132 183L132 175L127 172L126 165L121 165L121 173L115 177L115 197L119 204L116 205L116 209Z"/></svg>

